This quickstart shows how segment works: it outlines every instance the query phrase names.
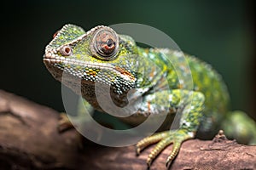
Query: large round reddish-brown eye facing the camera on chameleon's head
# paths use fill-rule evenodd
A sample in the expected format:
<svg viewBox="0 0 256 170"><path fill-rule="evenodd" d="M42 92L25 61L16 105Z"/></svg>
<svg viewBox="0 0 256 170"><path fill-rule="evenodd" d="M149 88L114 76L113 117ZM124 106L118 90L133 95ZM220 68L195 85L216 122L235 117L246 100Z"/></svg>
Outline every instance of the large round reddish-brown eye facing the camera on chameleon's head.
<svg viewBox="0 0 256 170"><path fill-rule="evenodd" d="M103 60L111 60L119 49L119 37L111 28L96 31L92 39L93 54Z"/></svg>

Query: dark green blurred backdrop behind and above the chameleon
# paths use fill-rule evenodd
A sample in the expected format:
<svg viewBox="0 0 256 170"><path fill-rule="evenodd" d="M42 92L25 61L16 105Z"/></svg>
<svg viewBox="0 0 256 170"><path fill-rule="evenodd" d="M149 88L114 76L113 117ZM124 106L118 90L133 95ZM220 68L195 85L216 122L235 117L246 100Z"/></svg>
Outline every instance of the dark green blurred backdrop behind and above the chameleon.
<svg viewBox="0 0 256 170"><path fill-rule="evenodd" d="M224 77L232 109L256 118L253 1L17 1L1 9L0 89L64 111L61 83L44 67L44 47L66 23L154 26Z"/></svg>

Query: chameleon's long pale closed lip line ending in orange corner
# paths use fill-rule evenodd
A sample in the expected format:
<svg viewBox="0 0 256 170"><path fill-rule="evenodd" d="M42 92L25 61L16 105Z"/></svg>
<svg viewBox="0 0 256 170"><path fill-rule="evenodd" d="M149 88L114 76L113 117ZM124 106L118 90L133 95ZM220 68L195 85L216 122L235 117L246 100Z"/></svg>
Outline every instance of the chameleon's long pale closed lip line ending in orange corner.
<svg viewBox="0 0 256 170"><path fill-rule="evenodd" d="M94 63L90 61L82 61L79 59L67 59L65 57L55 56L54 54L50 54L50 53L44 54L43 61L45 65L61 64L63 65L61 68L61 70L63 71L65 71L65 65L77 65L77 66L82 66L84 68L113 71L114 73L116 73L117 75L120 75L120 77L124 78L125 80L129 80L131 82L136 81L136 77L134 77L129 71L125 71L125 69L119 66L110 65L108 63Z"/></svg>

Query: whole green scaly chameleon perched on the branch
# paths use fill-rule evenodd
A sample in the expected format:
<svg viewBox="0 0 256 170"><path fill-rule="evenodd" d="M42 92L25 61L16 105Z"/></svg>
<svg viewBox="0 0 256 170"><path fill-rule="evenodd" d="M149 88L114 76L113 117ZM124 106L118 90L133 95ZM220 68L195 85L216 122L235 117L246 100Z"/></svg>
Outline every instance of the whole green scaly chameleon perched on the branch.
<svg viewBox="0 0 256 170"><path fill-rule="evenodd" d="M165 56L171 62L167 62ZM148 155L148 167L167 145L173 144L166 166L177 156L184 140L193 139L195 135L209 139L219 129L241 143L255 144L255 122L242 111L229 111L227 88L210 65L185 54L194 88L184 88L184 82L179 81L172 65L172 60L178 61L181 56L181 52L166 48L140 48L131 37L118 35L108 26L96 26L86 32L68 24L55 33L45 48L44 64L58 81L66 71L69 79L65 85L78 94L74 88L78 84L73 79L82 80L81 94L88 109L93 107L104 112L96 99L95 82L110 86L115 105L124 107L129 103L137 109L133 116L125 119L133 126L142 122L142 117L163 113L168 114L164 124L170 125L172 116L181 109L177 130L154 133L137 143L137 154L157 143ZM178 66L183 74L188 73L184 65ZM138 90L131 93L133 98L128 101L131 89ZM137 102L137 99L142 100Z"/></svg>

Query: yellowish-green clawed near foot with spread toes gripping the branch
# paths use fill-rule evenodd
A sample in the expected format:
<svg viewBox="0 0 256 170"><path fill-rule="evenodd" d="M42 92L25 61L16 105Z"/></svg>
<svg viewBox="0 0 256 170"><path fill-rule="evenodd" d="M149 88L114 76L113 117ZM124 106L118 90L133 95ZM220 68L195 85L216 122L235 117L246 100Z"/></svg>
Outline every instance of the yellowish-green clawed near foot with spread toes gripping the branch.
<svg viewBox="0 0 256 170"><path fill-rule="evenodd" d="M169 144L173 144L172 152L170 156L168 156L166 159L166 167L168 167L172 163L172 160L177 156L177 153L183 141L191 139L193 137L194 135L191 135L191 133L188 133L184 129L178 129L177 131L165 131L161 133L155 133L154 135L142 139L137 143L137 155L139 155L140 151L146 148L148 145L157 143L154 146L154 149L148 155L147 165L149 168L152 161L154 161L154 158L158 156L160 152L166 148L166 146L168 146Z"/></svg>

